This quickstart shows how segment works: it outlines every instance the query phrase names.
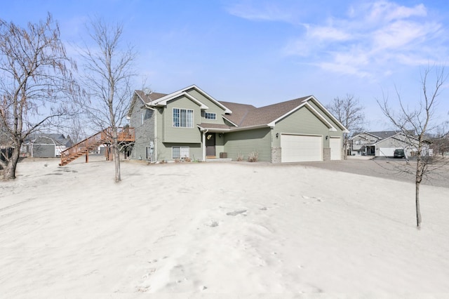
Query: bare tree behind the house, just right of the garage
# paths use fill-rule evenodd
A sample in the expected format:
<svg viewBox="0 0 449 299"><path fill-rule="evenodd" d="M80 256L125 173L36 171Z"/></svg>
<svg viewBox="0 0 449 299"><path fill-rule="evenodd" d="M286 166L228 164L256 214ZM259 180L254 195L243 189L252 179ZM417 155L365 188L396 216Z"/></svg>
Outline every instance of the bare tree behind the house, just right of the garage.
<svg viewBox="0 0 449 299"><path fill-rule="evenodd" d="M345 126L350 132L360 132L365 124L365 114L358 98L354 95L347 94L346 98L334 98L326 108L337 117L338 121ZM343 135L344 157L347 157L348 133Z"/></svg>

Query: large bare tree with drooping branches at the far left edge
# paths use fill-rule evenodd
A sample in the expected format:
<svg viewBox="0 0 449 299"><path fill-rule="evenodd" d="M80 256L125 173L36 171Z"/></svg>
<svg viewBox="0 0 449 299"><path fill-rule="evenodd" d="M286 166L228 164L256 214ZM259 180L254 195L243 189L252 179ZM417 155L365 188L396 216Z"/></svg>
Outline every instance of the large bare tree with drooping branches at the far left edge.
<svg viewBox="0 0 449 299"><path fill-rule="evenodd" d="M4 179L15 178L25 138L71 112L72 67L50 14L26 28L0 20L0 128L6 146L13 148Z"/></svg>

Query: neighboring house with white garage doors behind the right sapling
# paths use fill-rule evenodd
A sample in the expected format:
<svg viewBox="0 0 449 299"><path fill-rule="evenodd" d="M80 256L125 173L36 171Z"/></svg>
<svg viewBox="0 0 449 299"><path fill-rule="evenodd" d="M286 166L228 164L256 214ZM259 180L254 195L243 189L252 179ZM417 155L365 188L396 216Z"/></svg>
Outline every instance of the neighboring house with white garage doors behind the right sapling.
<svg viewBox="0 0 449 299"><path fill-rule="evenodd" d="M363 132L351 137L350 145L351 155L393 157L394 150L403 149L410 157L417 152L418 140L396 131ZM429 153L429 145L425 144L423 154L427 153Z"/></svg>

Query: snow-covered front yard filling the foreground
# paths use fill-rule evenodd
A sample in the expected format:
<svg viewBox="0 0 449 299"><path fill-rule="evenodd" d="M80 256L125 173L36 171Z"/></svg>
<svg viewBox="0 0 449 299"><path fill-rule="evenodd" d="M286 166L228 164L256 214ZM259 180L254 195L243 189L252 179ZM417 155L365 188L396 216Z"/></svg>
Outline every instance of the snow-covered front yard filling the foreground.
<svg viewBox="0 0 449 299"><path fill-rule="evenodd" d="M121 170L115 184L113 162L42 159L0 182L1 298L449 293L448 188L422 186L417 231L408 182L247 162Z"/></svg>

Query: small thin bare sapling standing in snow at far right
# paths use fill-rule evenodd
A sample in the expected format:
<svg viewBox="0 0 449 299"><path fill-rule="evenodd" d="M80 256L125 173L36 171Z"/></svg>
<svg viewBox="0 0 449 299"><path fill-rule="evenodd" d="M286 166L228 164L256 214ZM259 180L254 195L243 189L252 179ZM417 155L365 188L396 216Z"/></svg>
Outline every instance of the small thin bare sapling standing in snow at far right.
<svg viewBox="0 0 449 299"><path fill-rule="evenodd" d="M389 119L391 124L403 133L408 144L413 144L413 140L417 141L417 148L415 149L416 168L415 168L415 206L416 206L416 227L421 229L421 210L420 210L420 185L423 178L430 178L429 175L436 173L436 170L442 168L443 160L439 157L429 155L429 140L428 134L434 131L438 126L436 125L436 117L434 115L436 107L438 106L438 95L441 88L447 79L444 74L444 67L435 67L434 72L434 86L429 89L429 76L433 67L427 67L421 74L421 88L422 96L417 101L414 108L401 98L401 95L396 89L396 97L398 102L398 109L394 111L389 106L389 99L384 95L382 101L377 100L382 112ZM443 134L445 135L445 134ZM408 169L404 168L407 172Z"/></svg>

